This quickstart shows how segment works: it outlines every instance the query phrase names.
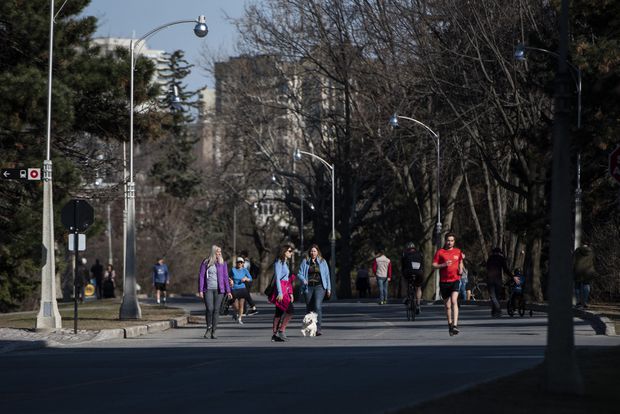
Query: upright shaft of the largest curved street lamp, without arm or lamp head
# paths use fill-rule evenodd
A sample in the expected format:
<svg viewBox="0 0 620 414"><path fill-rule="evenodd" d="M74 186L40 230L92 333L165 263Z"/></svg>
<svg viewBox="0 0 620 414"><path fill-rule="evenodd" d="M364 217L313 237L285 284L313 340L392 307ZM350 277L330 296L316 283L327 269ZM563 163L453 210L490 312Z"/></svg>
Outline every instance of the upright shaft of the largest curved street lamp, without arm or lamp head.
<svg viewBox="0 0 620 414"><path fill-rule="evenodd" d="M127 183L127 234L125 240L125 283L123 285L123 300L119 317L125 319L141 319L142 310L138 303L136 292L136 198L135 183L133 181L133 87L134 87L134 41L129 43L130 69L129 76L129 183Z"/></svg>

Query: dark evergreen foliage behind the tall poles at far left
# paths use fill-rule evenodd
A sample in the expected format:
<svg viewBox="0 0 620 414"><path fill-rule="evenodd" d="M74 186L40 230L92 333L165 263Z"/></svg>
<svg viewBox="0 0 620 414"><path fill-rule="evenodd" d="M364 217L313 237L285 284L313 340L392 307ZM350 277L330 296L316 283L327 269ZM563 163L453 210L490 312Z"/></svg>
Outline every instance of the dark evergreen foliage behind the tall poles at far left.
<svg viewBox="0 0 620 414"><path fill-rule="evenodd" d="M126 50L104 56L91 44L97 20L77 17L88 0L67 2L55 18L51 144L54 234L60 210L81 190L96 138L123 140L129 125ZM46 155L49 0L0 2L0 167L41 167ZM136 102L153 96L154 67L138 60ZM146 116L150 116L147 114ZM155 124L138 117L138 130ZM144 129L144 128L142 128ZM156 132L156 131L155 131ZM120 155L119 157L120 158ZM0 180L0 311L36 303L41 268L42 185ZM60 255L57 254L58 258ZM62 266L57 263L58 272Z"/></svg>

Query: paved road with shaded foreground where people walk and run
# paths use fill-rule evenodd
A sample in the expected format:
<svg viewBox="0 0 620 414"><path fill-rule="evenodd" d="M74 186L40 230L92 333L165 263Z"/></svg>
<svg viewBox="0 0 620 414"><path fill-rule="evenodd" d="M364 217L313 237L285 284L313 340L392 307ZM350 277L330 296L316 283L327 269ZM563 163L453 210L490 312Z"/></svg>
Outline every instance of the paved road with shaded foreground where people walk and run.
<svg viewBox="0 0 620 414"><path fill-rule="evenodd" d="M174 304L174 302L173 302ZM194 312L192 299L176 304ZM540 362L546 316L490 319L465 306L462 333L448 335L439 306L415 322L402 305L325 306L324 335L304 338L298 309L288 343L270 342L272 308L218 340L204 325L148 336L0 355L3 413L273 412L379 413L441 396ZM575 321L578 346L620 344Z"/></svg>

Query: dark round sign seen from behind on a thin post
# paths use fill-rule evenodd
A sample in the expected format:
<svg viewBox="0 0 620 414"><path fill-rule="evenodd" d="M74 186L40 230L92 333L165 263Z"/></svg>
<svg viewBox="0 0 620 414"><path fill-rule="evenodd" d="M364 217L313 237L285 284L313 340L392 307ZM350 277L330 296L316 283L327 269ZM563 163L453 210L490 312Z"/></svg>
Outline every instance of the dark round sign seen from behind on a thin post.
<svg viewBox="0 0 620 414"><path fill-rule="evenodd" d="M75 252L75 271L73 272L73 332L77 333L78 317L78 250L79 233L86 230L95 219L92 206L86 200L71 200L60 212L60 220L67 230L73 233L73 251Z"/></svg>

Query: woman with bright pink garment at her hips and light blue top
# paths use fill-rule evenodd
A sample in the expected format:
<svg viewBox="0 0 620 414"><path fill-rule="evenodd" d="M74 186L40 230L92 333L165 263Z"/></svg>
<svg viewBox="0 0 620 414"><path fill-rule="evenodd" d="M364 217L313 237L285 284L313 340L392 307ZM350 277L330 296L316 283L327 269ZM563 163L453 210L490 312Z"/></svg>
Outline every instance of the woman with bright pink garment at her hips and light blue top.
<svg viewBox="0 0 620 414"><path fill-rule="evenodd" d="M293 248L290 245L284 245L280 248L274 265L274 284L277 294L275 298L271 298L271 302L276 305L275 314L273 316L273 335L272 342L286 342L286 325L293 317L293 288L291 285L291 276L289 275L287 260L293 255Z"/></svg>

